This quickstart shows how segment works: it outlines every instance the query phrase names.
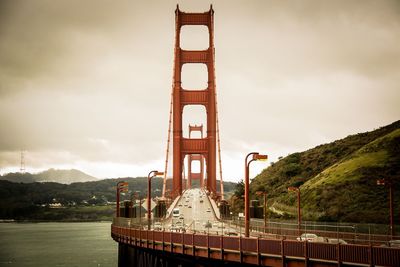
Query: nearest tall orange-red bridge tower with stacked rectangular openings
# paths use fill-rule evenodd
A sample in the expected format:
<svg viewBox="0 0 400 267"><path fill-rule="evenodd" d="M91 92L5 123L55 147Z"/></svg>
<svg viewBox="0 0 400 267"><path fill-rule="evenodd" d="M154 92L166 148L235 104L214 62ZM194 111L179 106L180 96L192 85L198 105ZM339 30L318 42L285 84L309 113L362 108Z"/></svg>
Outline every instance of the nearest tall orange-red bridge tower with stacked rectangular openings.
<svg viewBox="0 0 400 267"><path fill-rule="evenodd" d="M183 50L180 47L182 26L206 26L209 32L209 47L206 50ZM208 72L208 86L182 88L181 72L184 64L205 64ZM205 138L184 138L182 135L182 113L187 105L202 105L207 111L207 136ZM175 52L173 73L173 188L175 194L182 194L182 171L186 155L202 155L206 164L206 189L216 194L216 140L217 114L214 69L214 10L204 13L175 11Z"/></svg>

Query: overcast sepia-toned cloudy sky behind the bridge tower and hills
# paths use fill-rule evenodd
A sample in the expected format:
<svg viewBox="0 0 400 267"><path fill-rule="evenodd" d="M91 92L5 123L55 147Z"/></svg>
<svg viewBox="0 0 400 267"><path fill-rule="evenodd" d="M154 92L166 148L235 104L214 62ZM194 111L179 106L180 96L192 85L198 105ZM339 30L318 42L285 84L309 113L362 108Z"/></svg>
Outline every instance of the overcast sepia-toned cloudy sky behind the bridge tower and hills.
<svg viewBox="0 0 400 267"><path fill-rule="evenodd" d="M206 1L0 1L0 173L164 168L174 10ZM399 1L213 1L224 178L400 118ZM181 46L206 47L204 27ZM184 69L186 87L207 81ZM187 123L204 110L185 108ZM267 163L268 164L268 163ZM251 176L265 163L254 163Z"/></svg>

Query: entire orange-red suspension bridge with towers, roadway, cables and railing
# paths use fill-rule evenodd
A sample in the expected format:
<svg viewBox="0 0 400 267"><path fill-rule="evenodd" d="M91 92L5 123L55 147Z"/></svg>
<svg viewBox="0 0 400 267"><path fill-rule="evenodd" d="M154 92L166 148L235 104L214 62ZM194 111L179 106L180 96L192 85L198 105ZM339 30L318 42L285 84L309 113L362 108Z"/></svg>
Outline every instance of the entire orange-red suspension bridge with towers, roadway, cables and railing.
<svg viewBox="0 0 400 267"><path fill-rule="evenodd" d="M182 49L181 28L185 25L206 26L209 47L205 50ZM184 64L206 65L207 88L182 88ZM256 152L249 153L245 161L244 224L232 220L229 205L224 200L214 64L212 6L203 13L183 12L177 6L165 168L163 172L155 170L148 175L145 219L129 207L123 209L124 214L120 212L119 193L127 189L127 183L117 185L117 212L111 235L119 243L119 266L400 266L399 248L377 245L387 241L387 237L375 236L371 240L370 235L369 242L348 244L341 241L351 238L353 233L325 231L321 235L335 242L309 242L307 237L296 239L296 236L311 232L301 227L300 220L298 229L277 229L267 227L265 221L263 226L251 222L248 167L252 161L267 158ZM205 125L187 125L189 136L186 138L182 134L182 113L188 105L204 106L207 121ZM171 132L172 182L168 184ZM200 137L193 138L192 132L200 133ZM193 172L193 162L199 163L199 172ZM163 176L163 189L162 197L152 204L151 179L155 176ZM193 186L194 181L199 187ZM140 212L141 205L140 202ZM156 208L152 212L154 205Z"/></svg>

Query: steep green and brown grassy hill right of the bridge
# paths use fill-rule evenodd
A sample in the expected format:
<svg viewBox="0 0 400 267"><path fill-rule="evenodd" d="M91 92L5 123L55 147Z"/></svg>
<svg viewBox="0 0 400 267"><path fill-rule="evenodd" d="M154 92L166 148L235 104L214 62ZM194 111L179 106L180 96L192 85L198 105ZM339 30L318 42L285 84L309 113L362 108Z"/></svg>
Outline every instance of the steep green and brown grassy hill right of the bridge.
<svg viewBox="0 0 400 267"><path fill-rule="evenodd" d="M388 189L376 185L381 178L400 189L400 121L282 158L253 179L250 190L267 191L268 206L290 216L296 196L287 188L300 186L305 219L382 223ZM399 193L394 204L398 211ZM398 212L395 217L398 223Z"/></svg>

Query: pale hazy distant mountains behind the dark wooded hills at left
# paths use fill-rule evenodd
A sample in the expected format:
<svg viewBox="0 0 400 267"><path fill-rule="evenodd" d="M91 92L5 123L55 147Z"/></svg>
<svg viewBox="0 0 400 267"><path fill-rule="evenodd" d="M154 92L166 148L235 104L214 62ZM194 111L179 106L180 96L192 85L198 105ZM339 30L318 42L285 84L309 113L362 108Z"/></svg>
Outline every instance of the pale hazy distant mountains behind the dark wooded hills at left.
<svg viewBox="0 0 400 267"><path fill-rule="evenodd" d="M98 179L75 169L49 169L37 174L8 173L4 176L0 176L0 180L7 180L14 183L55 182L60 184L71 184L77 182L97 181Z"/></svg>

